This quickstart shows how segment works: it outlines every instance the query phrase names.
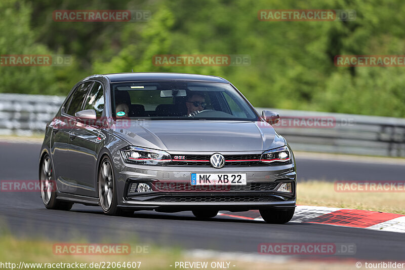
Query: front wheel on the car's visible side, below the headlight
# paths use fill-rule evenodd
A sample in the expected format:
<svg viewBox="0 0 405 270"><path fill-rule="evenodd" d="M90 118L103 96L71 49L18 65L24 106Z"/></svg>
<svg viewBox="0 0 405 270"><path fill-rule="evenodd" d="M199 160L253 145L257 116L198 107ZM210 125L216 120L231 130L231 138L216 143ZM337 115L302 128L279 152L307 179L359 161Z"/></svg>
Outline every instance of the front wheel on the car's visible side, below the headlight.
<svg viewBox="0 0 405 270"><path fill-rule="evenodd" d="M106 215L125 216L130 212L123 211L117 207L115 184L116 182L114 168L108 156L104 156L100 162L97 179L99 202L101 208Z"/></svg>

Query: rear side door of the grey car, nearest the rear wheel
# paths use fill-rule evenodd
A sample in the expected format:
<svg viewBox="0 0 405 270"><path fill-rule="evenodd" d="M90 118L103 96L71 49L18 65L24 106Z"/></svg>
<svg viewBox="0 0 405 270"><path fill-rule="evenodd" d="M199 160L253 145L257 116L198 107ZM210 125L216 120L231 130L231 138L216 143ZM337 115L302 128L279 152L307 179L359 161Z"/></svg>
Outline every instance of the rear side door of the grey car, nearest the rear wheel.
<svg viewBox="0 0 405 270"><path fill-rule="evenodd" d="M58 155L54 155L54 166L55 161L58 167L55 167L55 171L60 170L61 173L57 178L58 190L61 192L76 194L77 186L72 179L71 166L72 155L70 152L70 134L75 125L76 118L74 113L82 109L87 93L93 82L82 83L76 87L71 97L69 98L68 107L62 111L60 123L61 128L55 134L55 138L58 139L58 144L63 146L63 148L56 148L55 152L59 151Z"/></svg>

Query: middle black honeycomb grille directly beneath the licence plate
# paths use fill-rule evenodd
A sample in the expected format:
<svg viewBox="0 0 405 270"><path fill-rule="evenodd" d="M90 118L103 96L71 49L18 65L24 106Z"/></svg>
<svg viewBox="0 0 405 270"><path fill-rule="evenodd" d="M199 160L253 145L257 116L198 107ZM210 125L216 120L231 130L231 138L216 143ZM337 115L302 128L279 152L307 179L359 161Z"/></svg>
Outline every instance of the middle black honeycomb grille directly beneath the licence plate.
<svg viewBox="0 0 405 270"><path fill-rule="evenodd" d="M246 185L204 185L196 186L181 182L153 182L152 189L162 192L176 191L271 191L277 187L278 182L254 182Z"/></svg>

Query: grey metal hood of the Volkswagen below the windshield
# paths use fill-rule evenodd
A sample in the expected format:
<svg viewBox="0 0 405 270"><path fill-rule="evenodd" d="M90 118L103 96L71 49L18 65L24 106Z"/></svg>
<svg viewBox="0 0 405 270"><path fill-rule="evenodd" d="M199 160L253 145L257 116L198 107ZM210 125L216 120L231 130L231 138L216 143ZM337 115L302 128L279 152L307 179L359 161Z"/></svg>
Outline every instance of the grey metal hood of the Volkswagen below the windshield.
<svg viewBox="0 0 405 270"><path fill-rule="evenodd" d="M118 120L112 130L132 145L168 151L263 151L286 144L265 122Z"/></svg>

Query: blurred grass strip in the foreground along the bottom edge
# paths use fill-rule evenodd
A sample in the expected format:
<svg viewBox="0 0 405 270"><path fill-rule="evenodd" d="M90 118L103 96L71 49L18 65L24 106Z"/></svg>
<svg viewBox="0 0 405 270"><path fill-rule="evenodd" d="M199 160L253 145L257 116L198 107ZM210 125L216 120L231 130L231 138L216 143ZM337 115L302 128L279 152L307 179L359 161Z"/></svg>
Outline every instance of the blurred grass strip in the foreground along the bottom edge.
<svg viewBox="0 0 405 270"><path fill-rule="evenodd" d="M78 243L73 241L72 243ZM80 241L80 243L86 243ZM127 242L128 243L128 242ZM18 268L20 262L24 263L87 263L85 268L90 269L89 264L91 262L100 263L104 262L141 262L140 269L158 270L158 269L179 269L175 267L175 262L193 262L193 261L206 261L211 268L212 262L229 262L230 269L250 269L250 270L267 270L271 269L301 269L301 270L317 270L317 269L352 269L354 262L347 261L342 256L337 257L333 262L333 265L328 261L297 261L289 259L288 257L272 259L267 255L259 255L257 252L252 251L254 257L246 258L243 255L229 255L221 254L215 255L215 252L211 255L193 255L187 252L183 252L178 248L157 248L152 247L149 253L130 254L130 255L54 255L53 245L55 243L41 239L18 239L12 237L10 234L0 235L0 262L15 263ZM133 247L135 244L132 243ZM172 266L170 266L172 265ZM233 266L235 265L235 266ZM271 265L271 266L270 266ZM73 266L74 267L74 266ZM9 267L11 268L11 267ZM42 269L44 269L44 265ZM54 267L55 268L55 267ZM95 267L93 267L94 269ZM29 267L29 269L41 269L37 267ZM49 268L50 269L50 268ZM58 269L67 269L58 268ZM74 269L74 268L71 268ZM76 268L77 269L77 268ZM111 267L109 269L138 269L138 268L117 268ZM184 269L184 268L183 268Z"/></svg>

